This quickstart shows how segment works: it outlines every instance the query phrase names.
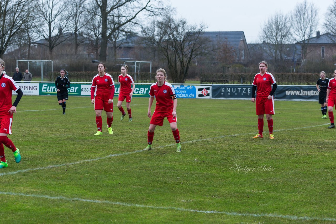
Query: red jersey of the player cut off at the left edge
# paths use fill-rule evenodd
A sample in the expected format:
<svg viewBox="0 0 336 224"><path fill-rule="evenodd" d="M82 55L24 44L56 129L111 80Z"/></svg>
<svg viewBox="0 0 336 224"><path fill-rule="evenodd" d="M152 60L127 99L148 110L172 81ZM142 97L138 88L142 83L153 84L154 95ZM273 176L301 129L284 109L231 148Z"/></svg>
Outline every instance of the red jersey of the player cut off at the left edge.
<svg viewBox="0 0 336 224"><path fill-rule="evenodd" d="M0 117L10 116L8 111L12 107L12 91L16 92L19 88L10 76L3 74L0 79Z"/></svg>

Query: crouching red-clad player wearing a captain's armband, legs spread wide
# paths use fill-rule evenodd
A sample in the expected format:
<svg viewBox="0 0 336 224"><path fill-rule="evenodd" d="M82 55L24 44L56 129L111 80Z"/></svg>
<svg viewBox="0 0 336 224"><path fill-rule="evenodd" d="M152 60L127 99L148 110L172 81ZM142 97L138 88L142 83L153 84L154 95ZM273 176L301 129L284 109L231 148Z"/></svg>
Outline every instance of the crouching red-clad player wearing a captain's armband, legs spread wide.
<svg viewBox="0 0 336 224"><path fill-rule="evenodd" d="M173 132L173 136L176 141L176 151L181 151L180 134L177 129L177 117L176 106L177 99L175 90L172 85L166 82L167 74L164 69L158 69L156 71L157 83L151 85L149 91L149 104L148 104L148 117L151 118L149 129L147 133L148 146L143 150L151 150L154 138L154 131L157 125L162 126L164 118L167 118L170 128ZM155 110L153 116L151 114L151 107L156 100Z"/></svg>

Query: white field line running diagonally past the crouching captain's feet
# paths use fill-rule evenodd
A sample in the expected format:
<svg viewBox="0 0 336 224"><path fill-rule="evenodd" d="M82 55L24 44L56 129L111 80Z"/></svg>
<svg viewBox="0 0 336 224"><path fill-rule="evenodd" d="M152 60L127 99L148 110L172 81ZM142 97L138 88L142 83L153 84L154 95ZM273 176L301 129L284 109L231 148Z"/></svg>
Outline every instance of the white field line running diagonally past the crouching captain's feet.
<svg viewBox="0 0 336 224"><path fill-rule="evenodd" d="M323 125L327 125L327 124L323 124ZM309 127L291 128L291 129L281 129L281 130L275 130L274 132L276 132L276 131L290 131L290 130L297 130L297 129L303 129L303 128L313 128L313 127L318 127L318 126L323 126L323 125L314 125L314 126L309 126ZM181 144L195 143L195 142L200 142L200 141L208 141L208 140L212 140L212 139L233 137L233 136L240 136L240 135L253 135L253 133L235 134L235 135L222 135L222 136L212 137L212 138L203 138L203 139L185 141L185 142L181 142ZM169 146L174 146L174 145L175 144L163 145L163 146L153 147L152 149L164 148L164 147L169 147ZM63 166L68 166L68 165L75 165L75 164L80 164L80 163L85 163L85 162L92 162L92 161L96 161L96 160L107 159L107 158L114 157L114 156L129 155L129 154L142 152L142 151L143 150L136 150L136 151L132 151L132 152L110 154L110 155L107 155L107 156L104 156L104 157L98 157L98 158L90 159L90 160L81 160L81 161L77 161L77 162L73 162L73 163L65 163L65 164L58 164L58 165L50 165L50 166L47 166L47 167L37 167L37 168L31 168L31 169L25 169L25 170L17 170L17 171L13 171L13 172L0 173L0 176L12 175L12 174L17 174L17 173L24 173L24 172L35 171L35 170L45 170L45 169L63 167Z"/></svg>

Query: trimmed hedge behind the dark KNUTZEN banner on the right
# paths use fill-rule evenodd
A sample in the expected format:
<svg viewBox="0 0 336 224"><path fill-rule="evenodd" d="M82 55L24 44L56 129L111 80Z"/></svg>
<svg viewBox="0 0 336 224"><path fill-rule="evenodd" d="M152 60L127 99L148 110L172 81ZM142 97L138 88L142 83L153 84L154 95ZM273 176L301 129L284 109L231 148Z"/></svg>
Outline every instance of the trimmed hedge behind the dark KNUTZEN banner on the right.
<svg viewBox="0 0 336 224"><path fill-rule="evenodd" d="M255 74L251 73L235 73L235 74L202 74L201 83L212 84L247 84L253 82ZM320 78L318 73L274 73L273 74L278 85L316 85ZM333 77L327 77L333 78Z"/></svg>

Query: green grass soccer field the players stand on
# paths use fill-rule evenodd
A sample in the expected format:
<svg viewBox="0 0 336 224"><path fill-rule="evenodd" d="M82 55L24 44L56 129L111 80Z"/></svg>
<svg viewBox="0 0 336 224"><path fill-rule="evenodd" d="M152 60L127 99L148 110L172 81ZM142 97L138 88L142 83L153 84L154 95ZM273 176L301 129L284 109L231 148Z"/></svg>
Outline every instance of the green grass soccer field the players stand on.
<svg viewBox="0 0 336 224"><path fill-rule="evenodd" d="M275 139L249 100L178 99L182 152L168 122L147 145L148 98L133 122L96 133L89 97L23 96L0 170L3 223L335 223L335 129L317 102L276 101ZM152 112L154 111L154 105ZM102 115L103 122L106 115ZM238 169L237 169L238 167Z"/></svg>

